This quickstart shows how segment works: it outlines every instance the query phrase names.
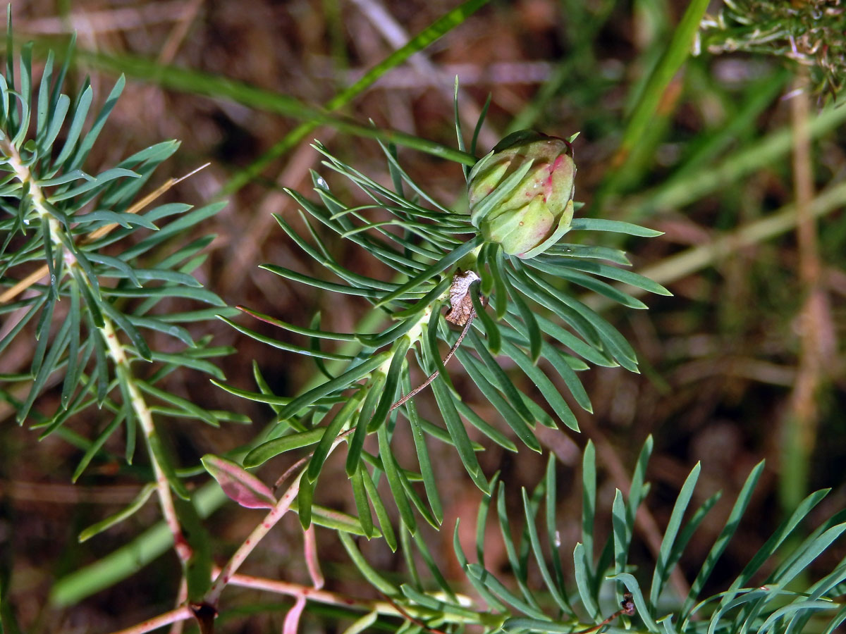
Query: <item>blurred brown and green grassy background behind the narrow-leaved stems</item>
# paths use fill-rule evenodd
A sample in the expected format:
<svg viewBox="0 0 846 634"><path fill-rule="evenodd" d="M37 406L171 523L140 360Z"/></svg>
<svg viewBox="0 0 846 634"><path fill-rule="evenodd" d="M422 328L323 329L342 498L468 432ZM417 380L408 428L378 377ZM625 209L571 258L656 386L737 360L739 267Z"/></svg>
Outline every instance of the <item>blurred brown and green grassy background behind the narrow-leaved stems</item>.
<svg viewBox="0 0 846 634"><path fill-rule="evenodd" d="M725 508L706 518L682 571L686 562L698 563L706 555L744 478L766 457L766 474L748 514L753 521L744 522L729 544L728 560L737 567L723 564L709 582L709 589L718 591L810 490L834 489L812 513L812 522L846 507L846 108L832 107L843 79L844 25L839 0L735 2L725 10L712 2L695 38L698 55L678 72L670 64L664 81L656 84L660 73L653 70L667 63L665 52L688 5L684 0L493 0L382 74L340 112L360 123L372 120L379 128L454 146L458 75L465 129L473 128L491 96L481 151L519 128L562 137L580 132L574 144L576 199L586 203L580 213L637 221L664 232L648 241L630 238L621 246L629 250L635 271L652 276L675 296L651 296L645 300L649 311L603 307L638 351L641 374L620 368L585 372L594 413L580 415L584 433L544 428L538 433L561 464L559 515L572 516L560 527L564 544L578 538L578 512L567 509L580 508L580 447L587 439L596 443L602 465L598 515L607 516L613 489L627 489L626 473L645 437L654 436L650 512L640 517L635 560L638 549L641 557L651 558L658 527L666 524L690 467L701 461L696 494L701 499L694 501L722 489ZM195 205L228 199L211 221L214 226L202 227L203 233L217 233L200 272L206 286L230 305L245 304L303 325L320 310L327 330L354 331L367 311L363 301L321 295L257 268L272 262L325 275L293 248L271 217L277 213L301 226L296 205L281 188L310 190L309 170L321 171L311 139L320 139L335 156L377 181L390 180L376 142L332 126L298 133L298 126L313 117L305 110L296 116L297 105L288 97L332 103L365 71L456 6L455 0L14 0L12 13L15 35L36 40L36 53L54 38L77 33L79 55L69 86L89 76L102 100L118 73L127 74L105 140L91 155L90 172L171 138L182 141L181 150L157 178L181 176L211 162L166 194ZM43 57L36 54L38 59ZM653 107L641 112L638 104L650 99ZM458 164L407 148L400 148L399 157L431 194L456 207L466 205ZM321 175L336 194L348 200L360 196L327 170ZM348 245L338 249L350 269L389 275ZM261 330L255 322L250 327ZM238 348L237 355L222 361L232 385L253 388L253 359L280 395L294 394L315 374L310 360L261 347L222 323L202 325L192 334L206 333ZM29 367L24 342L22 337L19 347L4 353L0 371ZM160 343L168 345L164 339ZM471 381L459 376L453 381L477 412L497 421ZM212 388L205 376L177 373L167 385L205 407L248 414L254 429L272 418L269 409ZM42 404L52 407L47 404L58 399L58 391L44 399ZM436 407L426 392L418 401L424 414ZM157 510L150 505L102 538L77 544L80 528L134 497L133 470L142 467L101 462L73 486L70 474L80 454L74 445L57 436L37 444L3 402L0 421L0 544L14 571L12 603L27 631L109 631L168 609L178 582L173 554L80 605L48 604L56 579L129 541L155 520ZM73 427L90 437L101 423L85 419ZM179 420L167 428L184 465L207 452L228 451L254 433ZM519 486L534 486L541 478L544 461L533 456L525 448L510 454L496 445L480 456L486 473L500 469L508 475L515 508ZM466 516L463 527L472 531L479 491L457 456L444 451L437 460L445 527ZM343 469L340 463L330 466L338 473ZM260 473L272 481L279 468ZM321 504L354 508L345 486L324 487L320 495ZM299 553L296 518L286 519L285 527L262 543L264 555L248 562L248 573L305 581L305 571L291 564ZM212 519L218 549L227 552L238 544L254 521L250 511L231 506L218 511ZM600 530L607 525L597 523ZM441 540L435 549L442 544L438 555L448 566L451 530L431 538ZM383 544L365 550L376 566L402 571ZM843 555L841 544L827 556ZM363 592L328 533L321 556L327 578L336 580L332 589ZM492 570L497 562L507 566L504 553L493 551L486 558ZM831 561L826 565L830 569ZM674 581L684 583L684 578ZM243 594L240 604L268 606L272 600L253 591L231 592ZM276 614L251 616L244 609L224 615L228 631L275 629L289 605L279 599ZM331 627L324 618L303 622L303 631L323 627Z"/></svg>

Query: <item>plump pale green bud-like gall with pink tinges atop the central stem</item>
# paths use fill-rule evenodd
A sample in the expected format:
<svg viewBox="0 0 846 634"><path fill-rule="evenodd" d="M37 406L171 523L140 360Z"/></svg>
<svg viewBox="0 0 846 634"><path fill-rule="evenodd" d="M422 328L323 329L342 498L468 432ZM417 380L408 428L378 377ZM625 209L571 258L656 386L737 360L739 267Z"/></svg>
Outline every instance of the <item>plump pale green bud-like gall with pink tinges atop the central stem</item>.
<svg viewBox="0 0 846 634"><path fill-rule="evenodd" d="M470 171L470 221L505 253L533 258L569 231L575 173L569 141L508 134Z"/></svg>

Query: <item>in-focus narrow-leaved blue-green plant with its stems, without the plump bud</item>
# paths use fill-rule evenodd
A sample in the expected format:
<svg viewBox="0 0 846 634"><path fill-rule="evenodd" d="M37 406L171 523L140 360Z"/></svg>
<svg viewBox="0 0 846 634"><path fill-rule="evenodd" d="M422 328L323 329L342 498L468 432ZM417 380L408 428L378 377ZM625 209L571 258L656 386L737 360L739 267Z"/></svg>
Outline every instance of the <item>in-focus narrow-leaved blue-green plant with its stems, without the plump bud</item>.
<svg viewBox="0 0 846 634"><path fill-rule="evenodd" d="M704 11L702 3L694 5ZM464 10L470 13L472 8ZM684 25L698 24L699 17L690 9ZM423 46L424 41L421 36L414 46ZM688 44L679 36L673 46L686 51ZM629 260L624 252L607 243L614 234L651 237L658 232L629 222L580 216L585 208L576 203L577 217L565 242L535 258L505 254L496 243L486 243L469 215L438 200L409 176L398 161L398 144L408 139L367 126L352 128L349 121L338 120L339 127L369 130L380 139L390 186L316 144L324 161L321 170L311 174L314 195L287 191L304 212L299 220L305 234L290 218L276 220L332 281L277 264L262 268L323 292L361 298L376 315L372 327L330 331L322 327L320 315L308 325L298 325L255 309L229 308L192 276L213 239L197 236L195 230L222 204L199 209L158 205L162 188L142 194L155 169L178 144L153 145L99 174L85 172L85 159L98 142L124 79L95 111L91 85L72 90L73 97L63 92L68 90L64 79L69 55L57 64L54 54L47 54L36 81L31 46L22 47L18 56L13 48L10 27L5 73L0 76L4 174L0 314L8 324L0 352L31 337L34 353L29 369L0 376L0 394L14 403L19 423L33 431L34 439L58 435L78 448L81 456L74 480L93 464L111 462L116 445L121 446L124 461L138 467L138 478L146 484L135 501L85 529L80 540L134 516L152 495L164 519L113 556L61 579L53 591L55 604L74 604L109 587L173 545L183 579L178 606L133 631L150 631L192 617L201 631L211 631L218 612L225 615L237 607L226 598L220 600L230 585L293 595L296 604L285 618L286 634L296 631L308 599L345 605L343 616L349 620L354 615L347 624L349 634L376 626L402 632L586 634L634 628L827 634L846 620L842 600L846 560L824 571L814 567L846 530L846 513L832 514L802 533L803 522L826 497L825 490L808 495L792 509L726 588L706 590L750 505L762 463L746 478L685 593L668 588L669 579L719 498L711 495L691 506L699 465L673 502L656 559L648 568L634 558L632 544L638 510L650 490L646 468L651 438L640 451L629 491L615 492L607 529L595 526L596 451L587 443L581 460L581 534L576 544L564 543L558 530L559 483L551 453L541 483L521 491L517 511L508 507L499 474L485 473L480 465L477 455L488 443L514 454L543 453L540 428L563 425L578 431L573 405L591 411L580 380L580 372L591 365L638 370L627 338L593 306L610 302L645 309L637 297L640 292L668 295L661 284L625 268ZM680 64L673 61L676 57L670 51L656 75ZM655 96L659 89L662 85L656 79L647 92ZM651 97L645 96L640 104L646 105L634 112L647 112L650 103ZM472 134L466 134L459 123L458 89L455 110L458 149L441 151L431 145L422 149L460 162L468 178L485 113ZM320 120L333 119L321 112ZM635 139L637 134L626 138ZM367 203L345 202L327 183L328 172L346 179ZM506 178L499 186L499 199L521 177L517 173ZM487 205L496 203L494 196ZM343 265L337 254L340 244L381 262L384 270L391 271L390 278ZM478 279L458 297L458 301L467 298L471 307L470 319L461 324L464 330L459 334L443 311L448 304L455 309L455 287L464 271L475 272ZM304 336L308 344L297 346L284 336L267 336L255 321L235 319L239 314L258 320L262 327L272 325ZM256 363L254 390L233 385L210 359L235 351L212 345L210 337L192 335L198 326L218 318L261 344L307 358L319 380L297 396L277 394ZM164 349L151 345L151 333L168 337ZM475 389L498 413L502 427L465 402L450 378L455 370L448 370L442 360L446 350L454 353ZM161 431L169 421L181 418L217 428L250 420L164 389L163 380L179 369L208 374L222 390L271 407L271 423L249 443L223 456L207 455L200 464L183 464ZM440 419L426 419L414 398L402 399L420 376L435 377L430 389ZM534 385L536 390L528 393L522 385ZM20 393L22 397L17 396ZM54 401L51 395L56 396ZM97 435L85 438L74 432L74 417L94 412L105 413ZM143 452L136 446L139 432ZM396 446L403 432L413 439L414 463ZM464 575L461 582L449 578L427 539L431 529L453 529L444 526L442 482L430 454L436 444L458 456L482 495L475 553L464 551L459 524L454 527L453 551ZM334 451L344 452L343 487L349 491L354 515L315 503L320 487L342 486L336 479L327 482L325 467ZM277 487L287 488L278 496L248 471L277 456L283 456L288 467L277 482ZM214 481L205 478L196 486L192 478L205 473ZM269 512L216 571L213 564L220 553L215 552L203 518L222 506L223 493L241 506ZM238 572L287 511L297 513L304 531L310 587ZM486 566L489 514L499 527L508 575ZM360 577L384 601L321 593L315 525L337 534ZM600 534L607 538L603 541ZM401 551L407 577L389 577L372 564L362 548L364 539L381 539L390 549ZM8 595L6 577L0 585L3 631L18 631ZM618 609L621 599L623 608Z"/></svg>

